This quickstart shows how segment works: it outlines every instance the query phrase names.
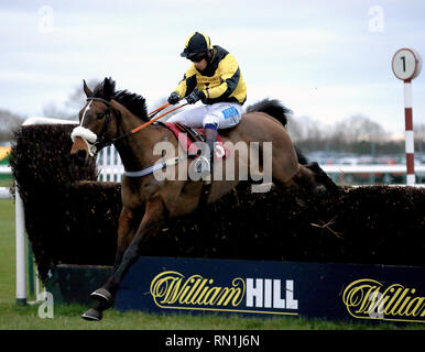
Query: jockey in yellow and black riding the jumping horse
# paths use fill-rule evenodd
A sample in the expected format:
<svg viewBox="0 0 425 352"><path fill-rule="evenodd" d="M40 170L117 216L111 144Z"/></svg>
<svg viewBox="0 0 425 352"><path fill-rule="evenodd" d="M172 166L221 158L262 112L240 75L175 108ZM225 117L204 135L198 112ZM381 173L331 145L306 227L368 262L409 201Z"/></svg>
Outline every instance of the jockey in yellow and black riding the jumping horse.
<svg viewBox="0 0 425 352"><path fill-rule="evenodd" d="M182 122L190 128L204 128L210 155L200 158L200 173L210 172L217 130L237 125L247 100L247 86L232 54L218 45L211 45L209 36L195 32L186 41L181 54L193 65L168 97L171 105L186 98L188 103L200 100L204 105L185 110L167 122Z"/></svg>

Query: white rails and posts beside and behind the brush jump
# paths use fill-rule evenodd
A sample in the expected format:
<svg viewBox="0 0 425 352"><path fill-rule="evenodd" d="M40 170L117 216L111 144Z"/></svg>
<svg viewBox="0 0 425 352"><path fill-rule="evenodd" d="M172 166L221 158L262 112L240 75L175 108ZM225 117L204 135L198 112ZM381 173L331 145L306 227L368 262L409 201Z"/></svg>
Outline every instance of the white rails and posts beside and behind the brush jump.
<svg viewBox="0 0 425 352"><path fill-rule="evenodd" d="M77 122L46 119L46 118L31 118L28 119L23 125L41 124L41 123L69 123ZM121 182L123 175L123 166L121 158L117 153L115 146L109 146L100 151L97 158L97 167L99 169L98 179L101 182ZM322 165L323 169L328 174L405 174L405 165ZM415 166L416 174L425 174L425 165ZM11 174L9 166L0 166L0 174ZM403 185L405 186L405 185ZM415 185L417 187L425 187L425 185ZM0 198L12 198L9 188L0 187ZM26 304L26 261L25 261L25 219L23 211L22 199L15 191L15 240L17 240L17 302ZM36 301L43 300L41 283L36 275Z"/></svg>

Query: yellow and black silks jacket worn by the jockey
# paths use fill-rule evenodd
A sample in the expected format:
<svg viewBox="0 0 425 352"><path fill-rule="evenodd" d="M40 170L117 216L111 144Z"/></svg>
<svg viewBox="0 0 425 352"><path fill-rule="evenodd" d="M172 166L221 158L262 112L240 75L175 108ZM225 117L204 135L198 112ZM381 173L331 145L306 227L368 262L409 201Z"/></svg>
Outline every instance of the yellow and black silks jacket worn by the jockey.
<svg viewBox="0 0 425 352"><path fill-rule="evenodd" d="M247 85L235 56L218 45L214 45L211 55L204 70L192 65L174 91L183 98L197 88L205 105L227 101L243 105Z"/></svg>

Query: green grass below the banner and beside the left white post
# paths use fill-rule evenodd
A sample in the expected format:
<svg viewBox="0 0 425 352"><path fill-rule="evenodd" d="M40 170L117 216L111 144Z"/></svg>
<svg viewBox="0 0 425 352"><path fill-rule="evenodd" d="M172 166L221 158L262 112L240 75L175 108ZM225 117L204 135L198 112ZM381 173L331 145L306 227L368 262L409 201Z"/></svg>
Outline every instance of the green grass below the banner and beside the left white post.
<svg viewBox="0 0 425 352"><path fill-rule="evenodd" d="M39 305L17 306L14 261L14 202L0 199L0 330L424 330L425 324L397 327L305 318L244 318L238 315L148 315L109 309L100 322L80 318L88 308L55 305L54 318L40 318Z"/></svg>

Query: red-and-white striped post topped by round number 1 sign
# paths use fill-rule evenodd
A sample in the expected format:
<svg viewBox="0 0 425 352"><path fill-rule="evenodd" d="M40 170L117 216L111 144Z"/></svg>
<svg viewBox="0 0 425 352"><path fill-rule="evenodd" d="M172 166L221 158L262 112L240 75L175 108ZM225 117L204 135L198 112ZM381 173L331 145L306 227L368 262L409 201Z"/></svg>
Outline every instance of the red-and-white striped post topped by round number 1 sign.
<svg viewBox="0 0 425 352"><path fill-rule="evenodd" d="M413 48L401 48L392 61L393 73L404 81L404 119L405 119L405 148L406 148L406 184L415 184L414 165L414 135L412 112L412 79L416 78L422 69L419 53Z"/></svg>

